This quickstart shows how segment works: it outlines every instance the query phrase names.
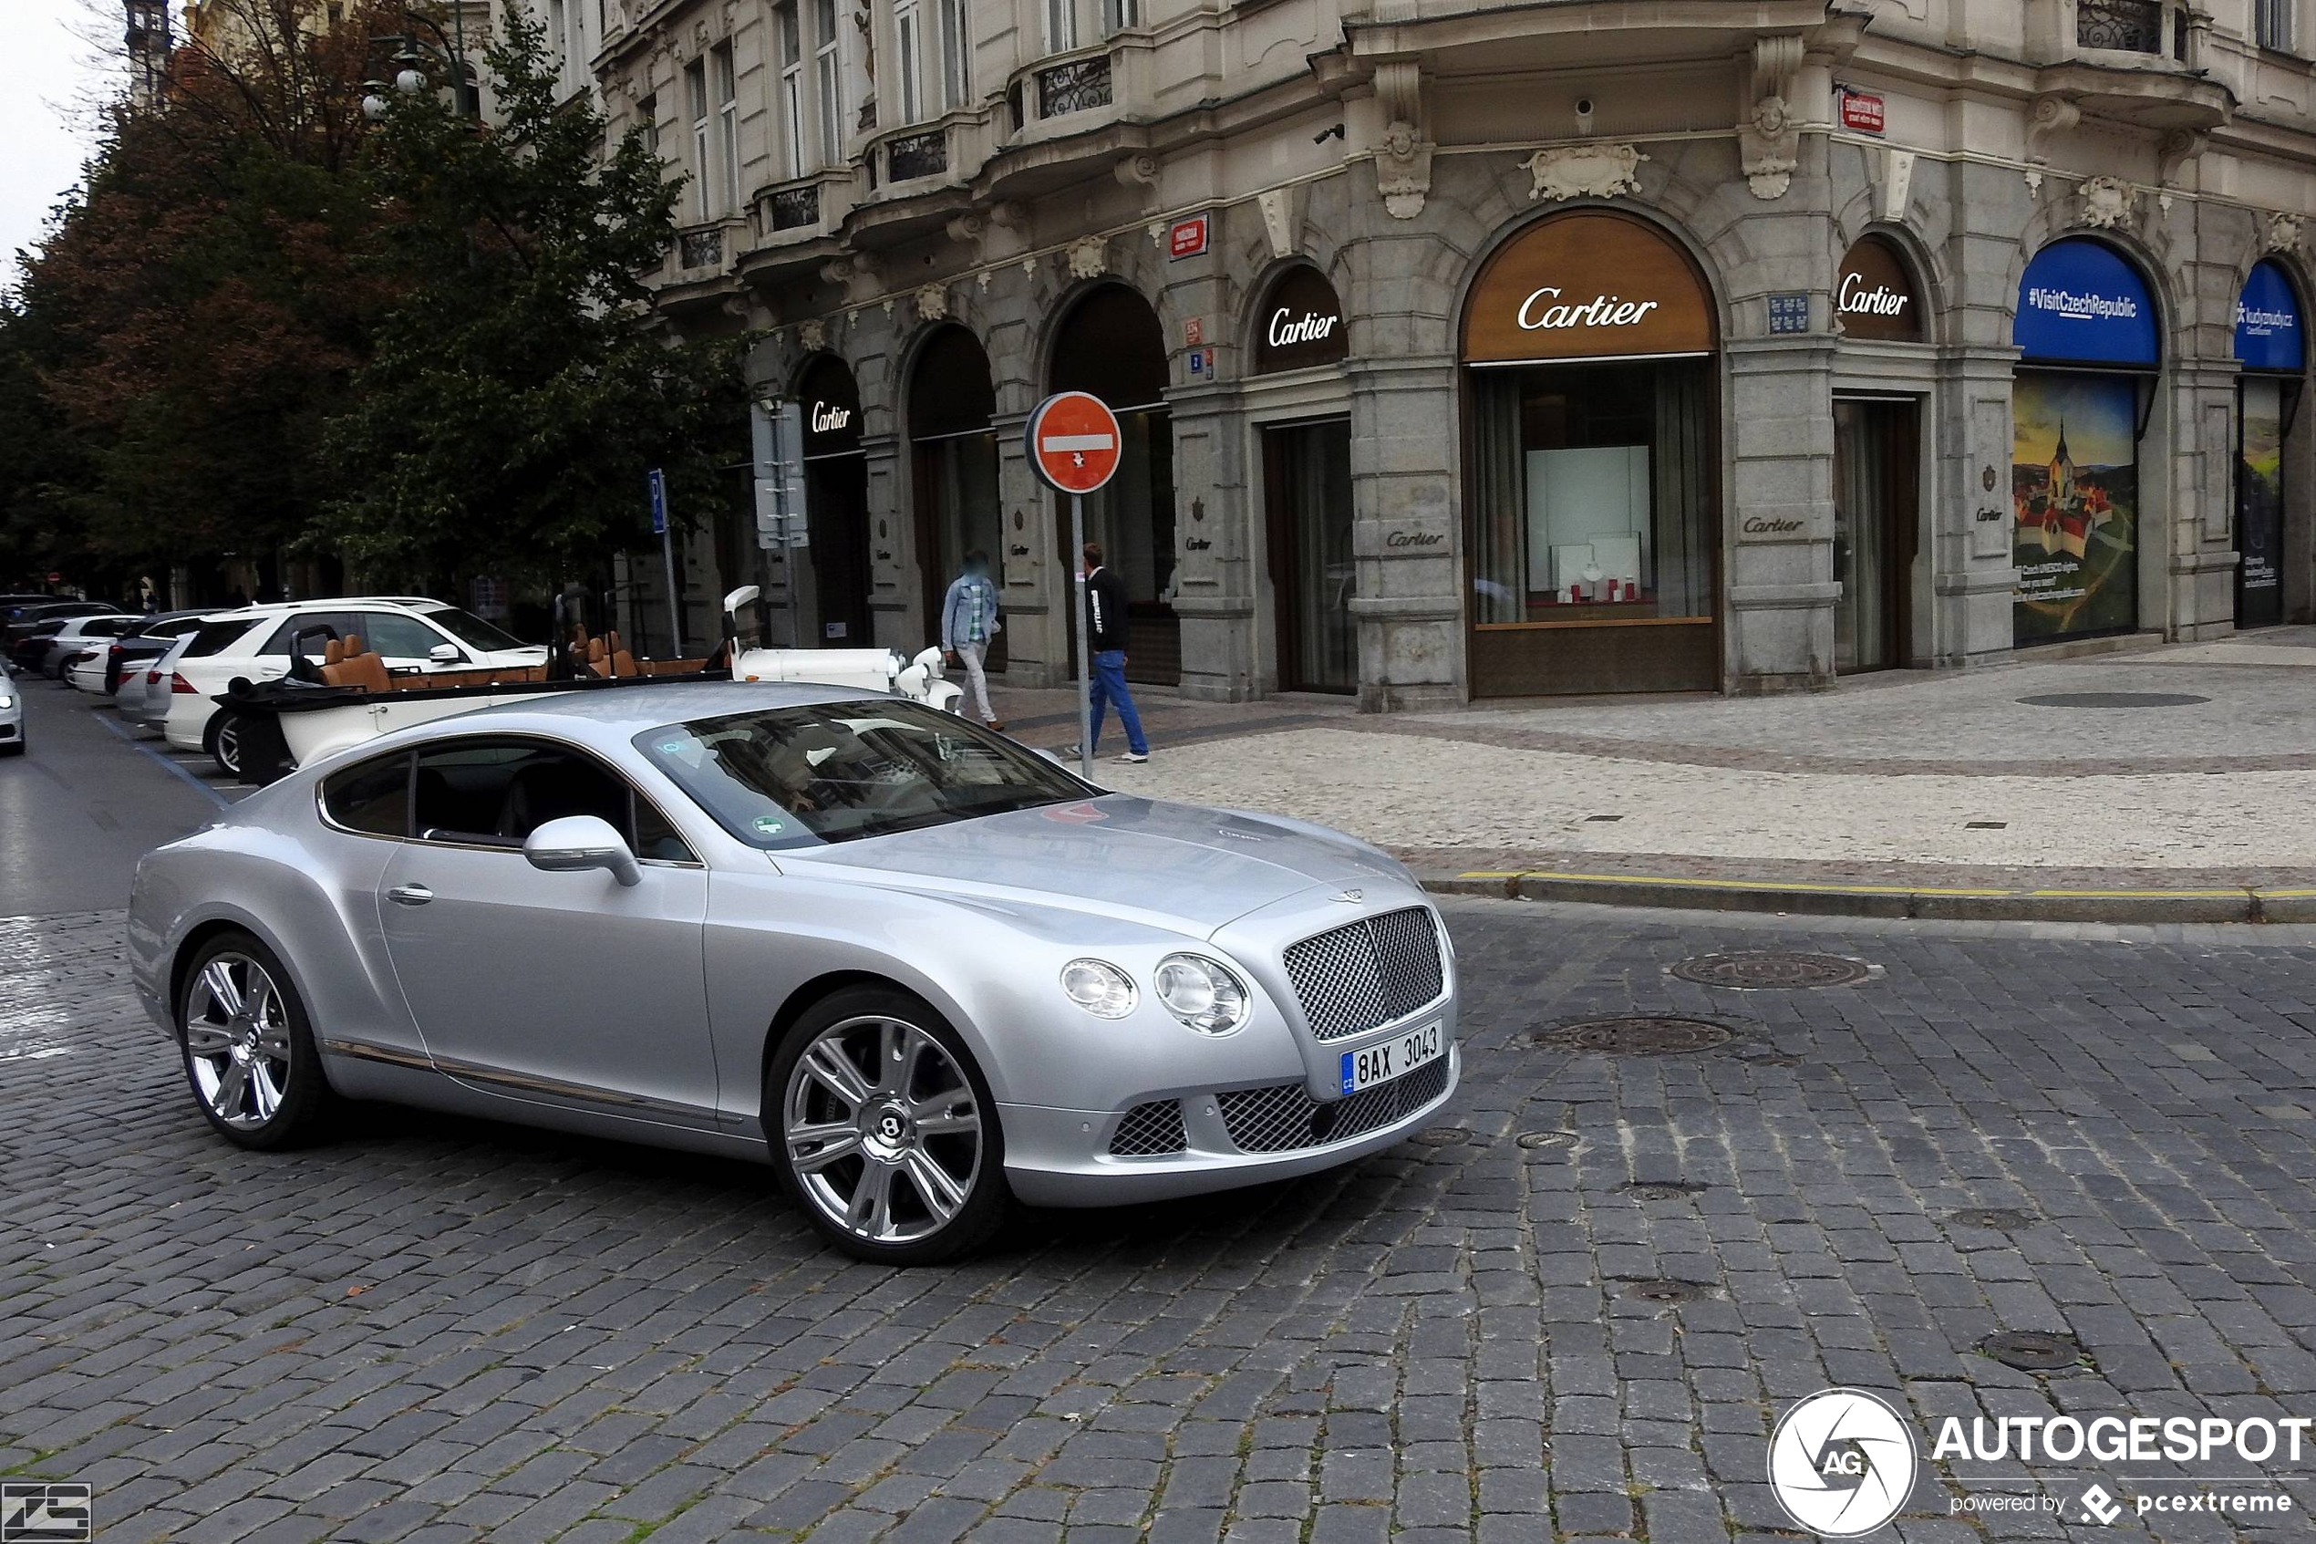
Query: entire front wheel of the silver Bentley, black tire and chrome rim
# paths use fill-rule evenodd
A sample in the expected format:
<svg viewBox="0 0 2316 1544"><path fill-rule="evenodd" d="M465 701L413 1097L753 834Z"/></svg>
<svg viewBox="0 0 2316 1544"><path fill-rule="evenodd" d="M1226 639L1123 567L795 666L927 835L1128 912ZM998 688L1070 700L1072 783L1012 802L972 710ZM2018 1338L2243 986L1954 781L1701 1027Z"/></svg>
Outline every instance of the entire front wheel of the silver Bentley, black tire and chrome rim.
<svg viewBox="0 0 2316 1544"><path fill-rule="evenodd" d="M963 1046L924 1005L841 993L794 1028L771 1072L780 1171L824 1234L868 1259L915 1264L996 1225L994 1111Z"/></svg>

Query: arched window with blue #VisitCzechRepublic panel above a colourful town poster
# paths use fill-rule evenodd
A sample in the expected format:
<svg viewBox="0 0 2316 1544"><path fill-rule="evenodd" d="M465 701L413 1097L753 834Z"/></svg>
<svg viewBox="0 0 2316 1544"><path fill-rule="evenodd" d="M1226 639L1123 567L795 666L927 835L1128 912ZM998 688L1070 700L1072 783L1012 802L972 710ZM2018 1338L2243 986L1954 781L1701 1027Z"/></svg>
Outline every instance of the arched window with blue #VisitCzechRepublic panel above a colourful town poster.
<svg viewBox="0 0 2316 1544"><path fill-rule="evenodd" d="M2068 236L2026 264L2013 340L2013 637L2133 632L2140 438L2163 363L2154 296L2121 252Z"/></svg>

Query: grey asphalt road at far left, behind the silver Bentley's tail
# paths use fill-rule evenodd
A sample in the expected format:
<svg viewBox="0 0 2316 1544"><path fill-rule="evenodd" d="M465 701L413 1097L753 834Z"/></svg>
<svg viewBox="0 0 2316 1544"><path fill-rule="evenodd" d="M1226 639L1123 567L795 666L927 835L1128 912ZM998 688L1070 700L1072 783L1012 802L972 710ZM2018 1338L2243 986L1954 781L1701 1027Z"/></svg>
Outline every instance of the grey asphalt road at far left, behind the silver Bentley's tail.
<svg viewBox="0 0 2316 1544"><path fill-rule="evenodd" d="M0 917L123 907L137 859L248 789L86 692L16 676L25 750L0 757Z"/></svg>

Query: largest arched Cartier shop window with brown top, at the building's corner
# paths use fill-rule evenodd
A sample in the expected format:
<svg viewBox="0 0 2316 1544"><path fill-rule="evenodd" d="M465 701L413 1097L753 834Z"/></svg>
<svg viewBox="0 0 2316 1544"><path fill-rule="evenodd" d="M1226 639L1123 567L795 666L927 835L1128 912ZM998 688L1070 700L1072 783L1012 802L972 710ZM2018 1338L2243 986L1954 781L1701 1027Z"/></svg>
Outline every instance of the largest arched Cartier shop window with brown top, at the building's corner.
<svg viewBox="0 0 2316 1544"><path fill-rule="evenodd" d="M1464 308L1471 694L1712 690L1721 475L1712 292L1661 229L1570 211Z"/></svg>

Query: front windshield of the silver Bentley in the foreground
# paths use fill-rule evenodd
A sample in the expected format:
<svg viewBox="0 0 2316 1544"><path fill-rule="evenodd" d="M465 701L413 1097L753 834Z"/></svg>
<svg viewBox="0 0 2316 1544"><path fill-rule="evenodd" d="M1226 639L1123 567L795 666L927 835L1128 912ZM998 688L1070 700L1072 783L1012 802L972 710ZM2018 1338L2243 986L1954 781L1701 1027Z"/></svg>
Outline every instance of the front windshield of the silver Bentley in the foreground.
<svg viewBox="0 0 2316 1544"><path fill-rule="evenodd" d="M676 787L755 847L818 847L1086 799L1061 766L954 713L834 701L635 736Z"/></svg>

